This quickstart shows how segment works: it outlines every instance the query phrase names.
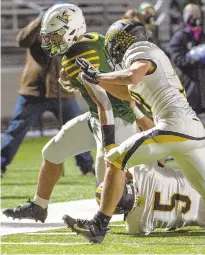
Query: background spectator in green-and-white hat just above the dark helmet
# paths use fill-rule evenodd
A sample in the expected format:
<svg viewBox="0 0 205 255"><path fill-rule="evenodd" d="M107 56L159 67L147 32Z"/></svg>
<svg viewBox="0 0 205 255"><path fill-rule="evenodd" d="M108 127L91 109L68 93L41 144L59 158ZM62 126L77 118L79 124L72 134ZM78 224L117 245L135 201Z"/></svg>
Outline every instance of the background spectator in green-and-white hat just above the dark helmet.
<svg viewBox="0 0 205 255"><path fill-rule="evenodd" d="M156 11L154 6L151 3L143 2L138 7L138 11L140 14L143 15L144 18L144 25L147 31L150 31L152 36L152 42L156 45L159 45L158 41L158 28L156 25Z"/></svg>

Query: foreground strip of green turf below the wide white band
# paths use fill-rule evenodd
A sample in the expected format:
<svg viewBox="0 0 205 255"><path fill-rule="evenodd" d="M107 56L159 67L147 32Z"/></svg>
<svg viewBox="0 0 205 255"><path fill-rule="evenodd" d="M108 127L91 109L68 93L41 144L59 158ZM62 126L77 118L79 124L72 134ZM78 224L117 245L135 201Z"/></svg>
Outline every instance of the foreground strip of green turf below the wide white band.
<svg viewBox="0 0 205 255"><path fill-rule="evenodd" d="M191 232L190 232L191 231ZM61 229L3 237L4 254L205 254L205 231L184 228L171 233L130 236L124 227L112 224L103 244L88 244L78 235Z"/></svg>

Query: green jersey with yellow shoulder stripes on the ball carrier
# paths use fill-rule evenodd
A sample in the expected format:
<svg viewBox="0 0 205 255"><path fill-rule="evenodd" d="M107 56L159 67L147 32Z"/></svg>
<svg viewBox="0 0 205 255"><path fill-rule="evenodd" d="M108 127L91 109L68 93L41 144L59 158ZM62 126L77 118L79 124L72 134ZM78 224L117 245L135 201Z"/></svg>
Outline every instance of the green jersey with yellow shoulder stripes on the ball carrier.
<svg viewBox="0 0 205 255"><path fill-rule="evenodd" d="M84 85L77 79L78 74L81 72L75 64L75 59L77 57L87 59L102 73L110 72L111 69L107 64L104 53L104 36L98 33L84 34L84 38L72 45L62 58L62 67L64 68L66 75L69 76L72 87L81 93L89 106L91 114L98 118L95 102L89 96ZM133 123L136 118L133 111L130 109L129 103L112 96L108 92L107 95L113 107L114 117L119 117L127 122Z"/></svg>

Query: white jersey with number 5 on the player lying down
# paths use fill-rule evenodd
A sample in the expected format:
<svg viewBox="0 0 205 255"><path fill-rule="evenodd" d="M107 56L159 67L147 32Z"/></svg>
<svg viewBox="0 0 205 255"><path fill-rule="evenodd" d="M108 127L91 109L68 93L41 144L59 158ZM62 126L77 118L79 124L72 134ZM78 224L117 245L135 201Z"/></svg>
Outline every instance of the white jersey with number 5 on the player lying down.
<svg viewBox="0 0 205 255"><path fill-rule="evenodd" d="M136 203L127 217L129 233L190 225L205 227L205 203L181 171L150 164L136 166L131 172Z"/></svg>

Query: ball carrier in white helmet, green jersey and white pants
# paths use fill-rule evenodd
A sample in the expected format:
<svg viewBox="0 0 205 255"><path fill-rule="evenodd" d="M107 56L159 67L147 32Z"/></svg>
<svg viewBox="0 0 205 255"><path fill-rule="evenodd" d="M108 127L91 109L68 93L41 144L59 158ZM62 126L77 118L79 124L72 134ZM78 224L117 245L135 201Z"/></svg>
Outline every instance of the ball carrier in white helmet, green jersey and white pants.
<svg viewBox="0 0 205 255"><path fill-rule="evenodd" d="M99 184L104 179L104 152L97 107L85 87L77 79L80 69L75 64L75 58L82 56L88 59L95 67L99 67L101 72L109 72L110 68L103 51L104 37L98 33L85 32L84 16L81 9L75 5L54 5L43 17L42 46L50 56L63 55L60 82L67 90L79 90L90 112L67 122L61 131L45 145L37 192L33 202L4 210L7 216L19 219L31 218L44 222L52 190L61 177L63 161L69 156L92 150L96 148L96 145L97 183ZM127 91L127 88L123 89L121 98L125 94L124 91ZM131 134L136 133L136 117L129 107L129 102L119 100L109 94L108 97L112 104L110 107L114 112L116 143L120 144ZM144 129L150 128L150 125L153 126L152 122L142 113L140 123Z"/></svg>

